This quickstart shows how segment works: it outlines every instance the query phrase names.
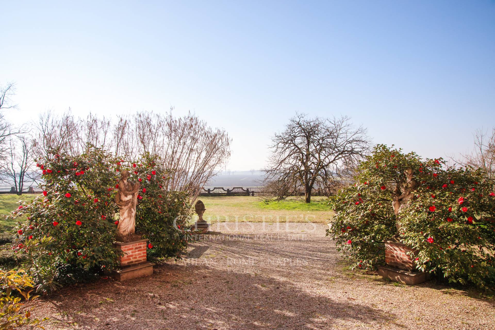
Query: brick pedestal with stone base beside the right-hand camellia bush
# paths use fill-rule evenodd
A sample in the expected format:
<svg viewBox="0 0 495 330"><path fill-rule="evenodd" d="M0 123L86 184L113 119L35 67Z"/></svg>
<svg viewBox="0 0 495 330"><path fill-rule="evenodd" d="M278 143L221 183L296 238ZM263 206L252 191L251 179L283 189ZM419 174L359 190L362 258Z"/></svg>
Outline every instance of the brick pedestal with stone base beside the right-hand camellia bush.
<svg viewBox="0 0 495 330"><path fill-rule="evenodd" d="M405 244L395 241L385 241L385 263L387 266L378 266L378 275L394 282L404 284L418 284L429 279L429 274L415 271L416 264L406 253L417 254Z"/></svg>

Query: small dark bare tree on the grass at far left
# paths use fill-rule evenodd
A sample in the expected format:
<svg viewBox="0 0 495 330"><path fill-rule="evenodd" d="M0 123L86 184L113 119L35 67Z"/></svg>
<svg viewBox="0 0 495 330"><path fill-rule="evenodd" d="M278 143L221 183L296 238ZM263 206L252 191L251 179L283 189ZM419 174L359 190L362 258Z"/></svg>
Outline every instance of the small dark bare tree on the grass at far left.
<svg viewBox="0 0 495 330"><path fill-rule="evenodd" d="M31 187L36 182L32 150L33 144L26 137L10 141L9 160L2 172L2 181L13 182L18 195L22 194L27 183L30 183Z"/></svg>

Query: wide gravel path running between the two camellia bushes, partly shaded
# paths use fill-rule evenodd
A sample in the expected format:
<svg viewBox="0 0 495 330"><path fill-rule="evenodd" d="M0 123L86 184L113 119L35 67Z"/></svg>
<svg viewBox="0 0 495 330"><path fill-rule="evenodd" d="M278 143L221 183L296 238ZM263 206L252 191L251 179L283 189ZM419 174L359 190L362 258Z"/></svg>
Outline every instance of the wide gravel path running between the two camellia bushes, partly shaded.
<svg viewBox="0 0 495 330"><path fill-rule="evenodd" d="M220 224L152 277L38 300L46 329L495 329L495 301L345 269L324 225Z"/></svg>

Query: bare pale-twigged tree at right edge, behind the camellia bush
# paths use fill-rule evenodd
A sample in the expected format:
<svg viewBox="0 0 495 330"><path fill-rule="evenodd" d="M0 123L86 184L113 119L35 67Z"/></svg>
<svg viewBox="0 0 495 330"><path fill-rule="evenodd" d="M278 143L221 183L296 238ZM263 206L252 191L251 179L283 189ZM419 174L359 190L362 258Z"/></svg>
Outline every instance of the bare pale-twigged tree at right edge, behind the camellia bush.
<svg viewBox="0 0 495 330"><path fill-rule="evenodd" d="M460 165L483 169L493 181L495 180L495 127L490 134L488 130L478 129L473 137L474 148L471 153L451 158Z"/></svg>

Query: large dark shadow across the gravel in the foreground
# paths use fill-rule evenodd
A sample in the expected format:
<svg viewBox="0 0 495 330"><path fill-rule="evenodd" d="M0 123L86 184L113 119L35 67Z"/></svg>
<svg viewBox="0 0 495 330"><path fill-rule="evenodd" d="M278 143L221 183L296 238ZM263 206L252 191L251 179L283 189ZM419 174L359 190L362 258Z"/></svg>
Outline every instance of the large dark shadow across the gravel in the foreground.
<svg viewBox="0 0 495 330"><path fill-rule="evenodd" d="M53 325L77 329L329 329L340 320L395 324L391 314L311 295L287 281L177 264L157 268L152 278L71 287L43 300L53 309Z"/></svg>

